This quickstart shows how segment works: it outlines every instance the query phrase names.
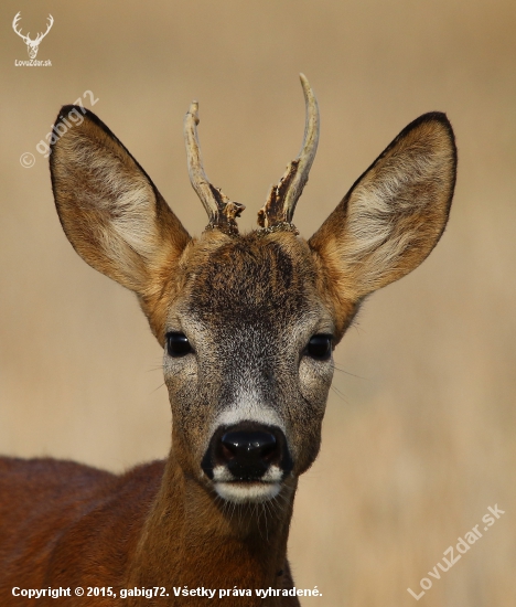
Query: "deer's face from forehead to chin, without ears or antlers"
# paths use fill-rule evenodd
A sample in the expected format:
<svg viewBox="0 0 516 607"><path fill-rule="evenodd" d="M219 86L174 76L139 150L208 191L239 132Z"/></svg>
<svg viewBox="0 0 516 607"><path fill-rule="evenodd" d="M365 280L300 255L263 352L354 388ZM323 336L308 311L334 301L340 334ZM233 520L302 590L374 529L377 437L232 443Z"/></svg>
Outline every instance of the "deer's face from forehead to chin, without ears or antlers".
<svg viewBox="0 0 516 607"><path fill-rule="evenodd" d="M211 231L182 265L164 351L178 458L225 499L272 498L319 451L333 374L311 251Z"/></svg>

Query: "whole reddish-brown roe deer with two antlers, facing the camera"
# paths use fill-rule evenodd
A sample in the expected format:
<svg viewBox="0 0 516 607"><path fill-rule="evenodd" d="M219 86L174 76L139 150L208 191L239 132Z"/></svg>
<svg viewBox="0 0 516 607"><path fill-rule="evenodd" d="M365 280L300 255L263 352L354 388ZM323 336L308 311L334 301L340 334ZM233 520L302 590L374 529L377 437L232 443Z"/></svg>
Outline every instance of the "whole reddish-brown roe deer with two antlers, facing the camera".
<svg viewBox="0 0 516 607"><path fill-rule="evenodd" d="M198 238L94 114L62 108L51 155L60 220L85 262L137 294L164 349L172 447L165 461L121 476L3 458L2 607L55 605L49 588L60 587L72 589L67 606L201 606L202 593L219 588L230 590L221 599L227 607L299 605L287 539L298 478L320 447L333 349L364 298L436 246L456 166L450 123L426 114L304 241L292 215L318 146L319 109L303 75L301 83L302 149L259 227L244 235L236 223L244 206L204 173L195 102L184 134L190 179L209 217ZM77 597L77 586L110 596ZM132 596L143 587L159 596ZM34 603L30 588L46 596Z"/></svg>

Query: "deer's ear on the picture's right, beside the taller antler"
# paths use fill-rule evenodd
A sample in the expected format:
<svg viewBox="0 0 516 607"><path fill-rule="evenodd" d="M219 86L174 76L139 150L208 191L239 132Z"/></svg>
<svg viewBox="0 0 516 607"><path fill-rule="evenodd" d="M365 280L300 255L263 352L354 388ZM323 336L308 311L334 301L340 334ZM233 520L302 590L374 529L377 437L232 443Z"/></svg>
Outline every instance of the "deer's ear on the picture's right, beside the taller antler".
<svg viewBox="0 0 516 607"><path fill-rule="evenodd" d="M398 135L309 241L333 299L357 303L419 266L447 225L455 170L444 114Z"/></svg>

